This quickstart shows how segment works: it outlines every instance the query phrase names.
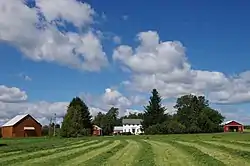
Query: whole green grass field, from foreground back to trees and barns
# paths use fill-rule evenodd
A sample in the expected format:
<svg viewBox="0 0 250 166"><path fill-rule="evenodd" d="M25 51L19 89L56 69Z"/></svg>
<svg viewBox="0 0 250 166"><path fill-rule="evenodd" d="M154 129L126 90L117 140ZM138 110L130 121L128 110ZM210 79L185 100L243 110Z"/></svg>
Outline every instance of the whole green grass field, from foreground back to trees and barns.
<svg viewBox="0 0 250 166"><path fill-rule="evenodd" d="M4 139L0 144L4 166L250 165L250 133Z"/></svg>

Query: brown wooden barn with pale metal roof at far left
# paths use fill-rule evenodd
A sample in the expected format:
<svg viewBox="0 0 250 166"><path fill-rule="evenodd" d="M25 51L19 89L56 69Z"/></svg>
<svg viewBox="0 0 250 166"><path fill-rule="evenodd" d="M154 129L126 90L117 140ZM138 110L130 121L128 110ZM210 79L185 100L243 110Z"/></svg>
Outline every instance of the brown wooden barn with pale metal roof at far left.
<svg viewBox="0 0 250 166"><path fill-rule="evenodd" d="M31 115L17 115L2 127L2 137L39 137L42 135L42 125Z"/></svg>

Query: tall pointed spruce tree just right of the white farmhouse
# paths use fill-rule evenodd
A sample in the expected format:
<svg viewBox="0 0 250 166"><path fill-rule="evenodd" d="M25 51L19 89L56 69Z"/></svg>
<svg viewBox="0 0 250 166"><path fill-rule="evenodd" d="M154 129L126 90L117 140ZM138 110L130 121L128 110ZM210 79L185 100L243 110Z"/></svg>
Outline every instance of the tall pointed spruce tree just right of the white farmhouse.
<svg viewBox="0 0 250 166"><path fill-rule="evenodd" d="M153 89L149 104L144 107L142 127L146 130L148 127L161 124L166 120L165 107L161 105L161 96L156 89Z"/></svg>

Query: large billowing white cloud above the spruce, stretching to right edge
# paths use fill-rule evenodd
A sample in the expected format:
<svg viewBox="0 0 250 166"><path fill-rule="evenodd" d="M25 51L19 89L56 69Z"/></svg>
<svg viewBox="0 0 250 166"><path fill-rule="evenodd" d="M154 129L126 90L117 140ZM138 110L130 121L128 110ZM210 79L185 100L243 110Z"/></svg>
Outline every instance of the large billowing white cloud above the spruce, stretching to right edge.
<svg viewBox="0 0 250 166"><path fill-rule="evenodd" d="M134 91L150 92L157 88L163 98L185 94L206 95L213 103L250 101L250 71L226 76L217 71L194 70L179 41L161 41L157 32L140 32L136 48L121 45L113 60L130 70L131 79L123 85Z"/></svg>

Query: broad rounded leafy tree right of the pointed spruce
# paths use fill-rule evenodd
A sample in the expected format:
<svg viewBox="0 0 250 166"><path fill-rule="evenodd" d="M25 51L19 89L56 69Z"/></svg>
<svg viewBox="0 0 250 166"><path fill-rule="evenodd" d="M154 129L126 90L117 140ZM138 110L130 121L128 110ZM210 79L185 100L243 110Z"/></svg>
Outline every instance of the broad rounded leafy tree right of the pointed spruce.
<svg viewBox="0 0 250 166"><path fill-rule="evenodd" d="M209 107L204 96L184 95L177 99L176 120L185 126L187 133L217 132L224 117Z"/></svg>

